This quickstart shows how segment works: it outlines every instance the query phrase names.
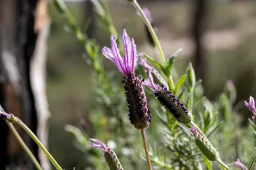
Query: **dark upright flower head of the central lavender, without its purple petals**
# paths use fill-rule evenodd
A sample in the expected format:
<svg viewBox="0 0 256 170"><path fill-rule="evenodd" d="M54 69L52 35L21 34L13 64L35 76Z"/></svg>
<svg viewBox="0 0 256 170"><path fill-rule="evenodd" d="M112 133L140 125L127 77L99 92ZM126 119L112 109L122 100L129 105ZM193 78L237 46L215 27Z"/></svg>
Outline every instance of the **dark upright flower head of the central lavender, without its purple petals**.
<svg viewBox="0 0 256 170"><path fill-rule="evenodd" d="M129 119L138 130L147 128L151 122L147 98L141 84L143 81L134 73L130 73L129 77L125 77L122 81L129 108Z"/></svg>

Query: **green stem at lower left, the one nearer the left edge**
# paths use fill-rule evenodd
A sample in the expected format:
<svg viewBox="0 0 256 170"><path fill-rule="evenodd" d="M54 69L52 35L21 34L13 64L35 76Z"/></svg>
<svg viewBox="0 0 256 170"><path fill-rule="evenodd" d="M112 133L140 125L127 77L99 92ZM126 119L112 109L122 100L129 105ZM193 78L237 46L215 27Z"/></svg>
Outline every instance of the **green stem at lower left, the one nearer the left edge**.
<svg viewBox="0 0 256 170"><path fill-rule="evenodd" d="M19 142L20 146L24 149L24 151L26 151L26 153L28 154L29 158L31 159L31 161L33 162L33 164L35 165L36 169L38 170L43 170L42 167L40 166L39 162L36 160L36 158L34 157L33 153L29 150L28 146L24 143L24 141L22 140L22 138L20 137L20 135L18 134L17 130L15 129L15 127L12 125L12 123L9 123L8 121L6 121L8 127L10 128L10 130L12 131L14 137L17 139L17 141Z"/></svg>

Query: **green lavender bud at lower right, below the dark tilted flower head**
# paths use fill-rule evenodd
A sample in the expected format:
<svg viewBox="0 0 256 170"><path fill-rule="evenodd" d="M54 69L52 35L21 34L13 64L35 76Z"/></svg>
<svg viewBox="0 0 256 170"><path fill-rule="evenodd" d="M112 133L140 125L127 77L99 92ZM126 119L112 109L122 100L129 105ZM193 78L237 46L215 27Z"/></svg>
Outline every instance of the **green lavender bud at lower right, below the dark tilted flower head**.
<svg viewBox="0 0 256 170"><path fill-rule="evenodd" d="M218 151L215 150L210 141L198 133L195 127L192 127L189 131L193 133L196 146L200 149L200 151L202 151L207 159L216 161L220 158Z"/></svg>

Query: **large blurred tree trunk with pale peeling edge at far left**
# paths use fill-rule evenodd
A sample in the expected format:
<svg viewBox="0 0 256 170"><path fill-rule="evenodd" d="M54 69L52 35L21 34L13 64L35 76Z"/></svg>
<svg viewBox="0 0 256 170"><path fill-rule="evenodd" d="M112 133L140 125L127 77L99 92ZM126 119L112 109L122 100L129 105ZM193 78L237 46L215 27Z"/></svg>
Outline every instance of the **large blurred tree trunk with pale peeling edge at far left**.
<svg viewBox="0 0 256 170"><path fill-rule="evenodd" d="M48 25L46 0L0 1L0 102L6 112L24 121L45 145L42 137L47 140L49 117L44 83ZM49 169L48 160L39 154L31 137L17 125L15 127L43 168ZM0 169L7 166L35 169L3 120L0 120L0 160Z"/></svg>

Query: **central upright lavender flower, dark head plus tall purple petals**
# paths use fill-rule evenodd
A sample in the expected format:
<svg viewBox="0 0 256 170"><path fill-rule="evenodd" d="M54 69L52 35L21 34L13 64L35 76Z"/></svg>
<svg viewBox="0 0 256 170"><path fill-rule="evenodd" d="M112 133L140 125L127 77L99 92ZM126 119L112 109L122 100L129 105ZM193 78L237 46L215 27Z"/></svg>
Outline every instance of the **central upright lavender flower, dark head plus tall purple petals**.
<svg viewBox="0 0 256 170"><path fill-rule="evenodd" d="M116 36L111 35L111 49L104 47L102 53L110 59L124 74L124 89L126 100L129 108L129 119L138 130L147 128L151 121L150 110L148 109L147 98L142 86L144 81L138 77L134 70L137 65L138 55L134 40L129 39L126 30L123 31L124 58L120 56L119 49L116 45Z"/></svg>

